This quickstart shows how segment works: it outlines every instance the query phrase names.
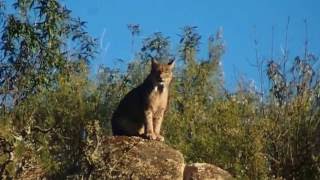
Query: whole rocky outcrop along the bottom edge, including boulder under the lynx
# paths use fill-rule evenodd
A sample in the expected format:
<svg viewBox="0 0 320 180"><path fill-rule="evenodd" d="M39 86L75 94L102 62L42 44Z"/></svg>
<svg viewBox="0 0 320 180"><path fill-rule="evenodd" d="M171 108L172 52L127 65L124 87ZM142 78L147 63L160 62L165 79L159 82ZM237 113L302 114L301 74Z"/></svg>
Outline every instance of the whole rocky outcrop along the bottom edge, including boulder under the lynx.
<svg viewBox="0 0 320 180"><path fill-rule="evenodd" d="M63 179L228 180L232 176L211 164L185 165L183 155L164 142L139 137L99 137L86 148L84 169ZM46 179L41 168L28 169L23 179ZM49 177L50 179L50 177Z"/></svg>

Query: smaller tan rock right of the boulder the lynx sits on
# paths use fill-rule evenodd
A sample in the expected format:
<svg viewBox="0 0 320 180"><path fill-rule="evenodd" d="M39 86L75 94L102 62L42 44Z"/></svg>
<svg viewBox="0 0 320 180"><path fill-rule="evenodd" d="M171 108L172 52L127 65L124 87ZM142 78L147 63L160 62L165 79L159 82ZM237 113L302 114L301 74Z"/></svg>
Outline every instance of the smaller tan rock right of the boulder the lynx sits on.
<svg viewBox="0 0 320 180"><path fill-rule="evenodd" d="M184 180L228 180L233 179L233 177L225 170L207 163L194 163L189 164L185 167L183 173Z"/></svg>

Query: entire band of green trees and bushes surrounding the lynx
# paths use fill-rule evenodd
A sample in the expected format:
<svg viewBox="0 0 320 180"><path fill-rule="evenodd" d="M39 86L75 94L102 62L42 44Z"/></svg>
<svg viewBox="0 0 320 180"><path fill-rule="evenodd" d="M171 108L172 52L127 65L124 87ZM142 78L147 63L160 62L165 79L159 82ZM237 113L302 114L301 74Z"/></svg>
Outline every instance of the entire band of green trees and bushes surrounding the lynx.
<svg viewBox="0 0 320 180"><path fill-rule="evenodd" d="M178 54L157 32L142 41L125 71L100 66L89 78L95 40L84 22L56 0L19 0L12 14L5 5L0 1L1 178L21 178L22 169L38 166L52 178L90 174L121 98L144 80L151 58L173 56L179 59L162 133L188 162L219 165L238 179L320 178L315 55L269 61L266 95L245 81L230 93L221 68L222 30L210 36L208 56L200 59L201 36L186 26ZM140 26L128 29L134 50Z"/></svg>

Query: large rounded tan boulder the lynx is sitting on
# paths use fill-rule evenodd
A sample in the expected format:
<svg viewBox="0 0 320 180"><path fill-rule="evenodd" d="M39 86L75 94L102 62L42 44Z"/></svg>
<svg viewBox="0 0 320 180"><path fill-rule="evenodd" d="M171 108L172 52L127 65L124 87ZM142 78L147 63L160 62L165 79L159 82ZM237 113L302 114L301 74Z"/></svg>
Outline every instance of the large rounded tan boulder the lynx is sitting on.
<svg viewBox="0 0 320 180"><path fill-rule="evenodd" d="M96 152L93 179L183 179L183 155L163 142L106 137Z"/></svg>

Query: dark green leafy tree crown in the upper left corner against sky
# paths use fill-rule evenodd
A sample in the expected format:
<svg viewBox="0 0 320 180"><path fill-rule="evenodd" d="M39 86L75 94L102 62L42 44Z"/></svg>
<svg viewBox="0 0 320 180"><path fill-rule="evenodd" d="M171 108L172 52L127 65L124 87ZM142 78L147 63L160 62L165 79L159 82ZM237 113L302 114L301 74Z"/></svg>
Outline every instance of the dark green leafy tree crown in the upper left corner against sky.
<svg viewBox="0 0 320 180"><path fill-rule="evenodd" d="M53 88L58 75L76 70L95 54L85 22L70 16L57 0L22 0L5 14L0 43L1 105L17 105L41 88Z"/></svg>

